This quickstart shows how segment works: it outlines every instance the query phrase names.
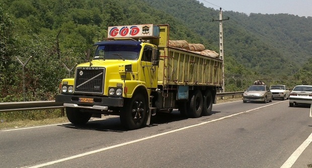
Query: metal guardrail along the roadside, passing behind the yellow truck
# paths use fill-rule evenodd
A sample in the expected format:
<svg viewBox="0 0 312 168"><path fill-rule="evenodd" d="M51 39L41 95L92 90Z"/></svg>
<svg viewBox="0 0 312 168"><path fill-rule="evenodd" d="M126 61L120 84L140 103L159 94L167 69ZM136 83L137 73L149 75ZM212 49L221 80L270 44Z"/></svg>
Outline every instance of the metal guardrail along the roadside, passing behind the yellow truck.
<svg viewBox="0 0 312 168"><path fill-rule="evenodd" d="M243 95L243 92L225 92L217 93L217 97ZM45 110L45 109L61 109L64 108L62 103L55 101L33 101L33 102L7 102L0 103L0 113L13 111L28 111L28 110Z"/></svg>

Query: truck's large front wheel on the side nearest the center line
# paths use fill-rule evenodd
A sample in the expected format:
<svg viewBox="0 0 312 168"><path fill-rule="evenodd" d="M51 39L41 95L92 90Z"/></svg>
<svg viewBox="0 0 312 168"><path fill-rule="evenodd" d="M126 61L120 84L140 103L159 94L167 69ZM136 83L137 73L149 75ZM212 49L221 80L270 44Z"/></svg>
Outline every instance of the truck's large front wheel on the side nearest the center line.
<svg viewBox="0 0 312 168"><path fill-rule="evenodd" d="M135 94L124 102L120 111L120 122L128 130L144 127L147 122L147 103L142 94Z"/></svg>

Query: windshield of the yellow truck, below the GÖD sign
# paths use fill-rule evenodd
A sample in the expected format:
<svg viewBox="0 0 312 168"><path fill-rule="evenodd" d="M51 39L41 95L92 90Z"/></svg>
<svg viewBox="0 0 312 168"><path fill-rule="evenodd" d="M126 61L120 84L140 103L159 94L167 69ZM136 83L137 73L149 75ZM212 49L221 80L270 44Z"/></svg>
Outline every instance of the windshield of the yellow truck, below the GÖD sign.
<svg viewBox="0 0 312 168"><path fill-rule="evenodd" d="M131 59L136 60L141 46L101 45L97 47L94 59Z"/></svg>

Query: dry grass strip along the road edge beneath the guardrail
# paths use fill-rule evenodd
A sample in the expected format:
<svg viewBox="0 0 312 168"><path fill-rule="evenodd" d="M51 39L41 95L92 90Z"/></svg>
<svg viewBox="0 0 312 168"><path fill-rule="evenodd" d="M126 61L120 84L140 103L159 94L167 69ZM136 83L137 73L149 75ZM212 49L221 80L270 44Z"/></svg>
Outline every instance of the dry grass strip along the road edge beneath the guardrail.
<svg viewBox="0 0 312 168"><path fill-rule="evenodd" d="M242 97L236 96L235 98L224 97L223 99L217 99L217 104L226 103L226 102L234 102L241 101ZM38 111L39 112L39 111ZM27 113L27 112L25 112ZM40 113L40 112L39 112ZM67 117L52 117L47 119L40 120L14 120L14 121L6 121L0 118L0 130L6 129L15 129L15 128L26 128L26 127L34 127L34 126L42 126L42 125L52 125L52 124L60 124L60 123L68 123Z"/></svg>

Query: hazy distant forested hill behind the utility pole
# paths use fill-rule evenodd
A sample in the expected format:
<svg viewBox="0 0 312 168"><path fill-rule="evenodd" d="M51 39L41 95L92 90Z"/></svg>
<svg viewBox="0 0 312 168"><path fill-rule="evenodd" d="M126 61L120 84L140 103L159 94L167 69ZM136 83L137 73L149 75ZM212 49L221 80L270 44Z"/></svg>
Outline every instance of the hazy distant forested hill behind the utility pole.
<svg viewBox="0 0 312 168"><path fill-rule="evenodd" d="M144 0L178 18L209 42L218 44L219 11L197 1ZM262 15L223 11L224 57L233 57L267 77L289 75L312 53L312 17Z"/></svg>

